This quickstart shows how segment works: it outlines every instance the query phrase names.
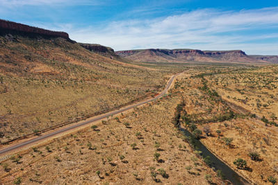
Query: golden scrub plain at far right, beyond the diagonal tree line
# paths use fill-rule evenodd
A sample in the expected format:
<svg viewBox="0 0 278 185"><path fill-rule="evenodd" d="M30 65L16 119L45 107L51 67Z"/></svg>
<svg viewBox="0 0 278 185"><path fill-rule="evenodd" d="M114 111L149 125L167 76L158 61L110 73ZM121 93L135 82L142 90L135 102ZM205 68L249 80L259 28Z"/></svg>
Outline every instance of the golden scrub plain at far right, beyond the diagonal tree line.
<svg viewBox="0 0 278 185"><path fill-rule="evenodd" d="M208 77L222 98L272 120L278 115L278 67L243 69Z"/></svg>

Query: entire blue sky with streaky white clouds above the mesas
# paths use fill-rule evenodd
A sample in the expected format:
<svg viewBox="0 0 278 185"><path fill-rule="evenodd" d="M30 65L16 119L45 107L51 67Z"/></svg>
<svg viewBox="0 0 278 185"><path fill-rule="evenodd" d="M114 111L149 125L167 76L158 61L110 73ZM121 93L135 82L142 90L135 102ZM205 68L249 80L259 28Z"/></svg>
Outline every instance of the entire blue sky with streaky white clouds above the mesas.
<svg viewBox="0 0 278 185"><path fill-rule="evenodd" d="M277 0L0 0L0 19L129 49L278 55Z"/></svg>

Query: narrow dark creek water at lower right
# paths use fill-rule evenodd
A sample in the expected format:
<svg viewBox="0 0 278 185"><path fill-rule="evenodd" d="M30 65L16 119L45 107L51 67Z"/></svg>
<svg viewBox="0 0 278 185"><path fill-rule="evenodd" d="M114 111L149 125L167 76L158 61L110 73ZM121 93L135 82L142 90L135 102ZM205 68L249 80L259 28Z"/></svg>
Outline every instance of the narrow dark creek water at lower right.
<svg viewBox="0 0 278 185"><path fill-rule="evenodd" d="M235 184L235 185L250 184L249 182L247 182L246 179L244 179L243 177L240 177L240 175L238 175L238 173L236 173L233 169L231 169L229 166L227 166L227 164L224 164L224 162L222 162L220 159L218 159L218 157L216 157L212 152L210 152L206 148L206 146L204 146L201 143L201 141L199 141L198 139L195 139L188 130L183 129L182 127L179 127L179 130L181 130L181 132L183 132L183 134L185 136L191 137L195 148L197 148L197 150L202 152L202 154L201 154L202 157L209 156L211 158L211 161L212 161L211 167L214 168L215 170L221 170L225 179L229 180L229 182L231 182L232 184Z"/></svg>

